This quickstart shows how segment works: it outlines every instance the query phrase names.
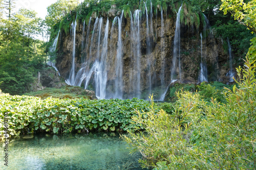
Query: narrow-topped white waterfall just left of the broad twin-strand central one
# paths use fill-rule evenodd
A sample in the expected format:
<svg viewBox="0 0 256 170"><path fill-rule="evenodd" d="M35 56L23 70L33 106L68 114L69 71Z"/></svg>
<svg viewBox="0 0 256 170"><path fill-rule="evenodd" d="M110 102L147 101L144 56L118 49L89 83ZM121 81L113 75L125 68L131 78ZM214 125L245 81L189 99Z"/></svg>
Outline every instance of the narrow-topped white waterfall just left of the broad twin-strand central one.
<svg viewBox="0 0 256 170"><path fill-rule="evenodd" d="M114 98L123 98L123 53L122 53L122 17L123 11L120 17L118 17L118 42L117 42L117 55L116 55L116 79L115 79L115 96Z"/></svg>

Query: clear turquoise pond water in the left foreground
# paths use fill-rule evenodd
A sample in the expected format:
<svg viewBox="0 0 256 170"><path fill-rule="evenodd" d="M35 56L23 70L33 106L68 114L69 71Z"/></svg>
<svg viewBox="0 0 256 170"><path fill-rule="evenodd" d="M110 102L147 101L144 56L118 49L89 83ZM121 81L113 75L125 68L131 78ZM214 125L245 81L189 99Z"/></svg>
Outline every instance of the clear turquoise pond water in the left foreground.
<svg viewBox="0 0 256 170"><path fill-rule="evenodd" d="M26 135L10 141L8 168L0 169L141 169L140 153L129 154L117 133ZM1 155L4 156L4 149ZM2 156L2 157L3 157Z"/></svg>

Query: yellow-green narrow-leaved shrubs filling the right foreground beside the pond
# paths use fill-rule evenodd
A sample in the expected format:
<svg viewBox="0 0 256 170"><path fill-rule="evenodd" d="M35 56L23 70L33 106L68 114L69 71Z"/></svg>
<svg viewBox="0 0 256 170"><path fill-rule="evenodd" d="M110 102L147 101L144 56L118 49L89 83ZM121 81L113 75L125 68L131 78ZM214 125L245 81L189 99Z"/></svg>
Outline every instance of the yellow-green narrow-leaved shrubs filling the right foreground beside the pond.
<svg viewBox="0 0 256 170"><path fill-rule="evenodd" d="M238 68L239 88L226 88L226 104L213 99L209 106L198 93L178 93L173 114L157 112L154 105L148 112L137 111L133 123L143 125L146 133L137 133L138 127L122 138L132 152L142 153L144 167L255 169L255 67L247 59L245 68Z"/></svg>

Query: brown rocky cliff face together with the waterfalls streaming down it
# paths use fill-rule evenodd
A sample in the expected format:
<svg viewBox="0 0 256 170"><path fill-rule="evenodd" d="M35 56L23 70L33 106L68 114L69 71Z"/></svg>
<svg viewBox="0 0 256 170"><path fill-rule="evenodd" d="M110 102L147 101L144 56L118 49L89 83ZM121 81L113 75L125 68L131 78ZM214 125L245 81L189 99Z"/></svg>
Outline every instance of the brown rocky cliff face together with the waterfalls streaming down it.
<svg viewBox="0 0 256 170"><path fill-rule="evenodd" d="M199 83L203 51L208 81L228 80L228 55L214 30L208 30L201 41L202 24L199 28L181 25L179 75L178 64L172 69L176 13L159 9L153 14L149 9L147 15L138 10L131 14L132 18L129 13L125 18L112 6L102 17L93 14L88 24L77 20L75 52L73 34L60 30L56 60L60 75L71 79L74 57L76 77L71 85L94 89L99 98L145 98L154 92L160 99L172 81L172 70L180 82Z"/></svg>

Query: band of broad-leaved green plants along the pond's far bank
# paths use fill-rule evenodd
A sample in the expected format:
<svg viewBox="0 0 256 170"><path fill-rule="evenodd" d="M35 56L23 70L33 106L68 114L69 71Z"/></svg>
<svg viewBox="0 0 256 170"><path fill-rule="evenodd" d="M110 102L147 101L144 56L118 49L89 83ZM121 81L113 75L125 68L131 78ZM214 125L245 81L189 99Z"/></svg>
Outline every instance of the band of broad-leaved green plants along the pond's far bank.
<svg viewBox="0 0 256 170"><path fill-rule="evenodd" d="M0 134L3 139L4 114L8 114L10 136L28 132L85 132L87 130L126 131L135 109L149 110L147 101L54 99L0 95Z"/></svg>

